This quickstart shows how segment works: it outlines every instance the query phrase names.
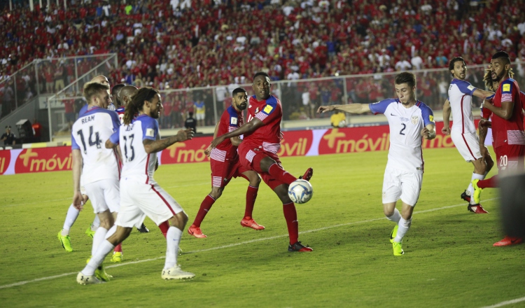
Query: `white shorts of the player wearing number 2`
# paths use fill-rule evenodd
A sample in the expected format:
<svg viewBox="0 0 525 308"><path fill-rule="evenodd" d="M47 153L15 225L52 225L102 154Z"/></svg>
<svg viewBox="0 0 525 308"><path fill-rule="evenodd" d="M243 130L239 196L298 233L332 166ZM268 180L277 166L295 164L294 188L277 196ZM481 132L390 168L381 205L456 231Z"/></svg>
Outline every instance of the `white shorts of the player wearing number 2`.
<svg viewBox="0 0 525 308"><path fill-rule="evenodd" d="M423 174L386 168L383 179L383 203L402 202L414 207L419 199Z"/></svg>

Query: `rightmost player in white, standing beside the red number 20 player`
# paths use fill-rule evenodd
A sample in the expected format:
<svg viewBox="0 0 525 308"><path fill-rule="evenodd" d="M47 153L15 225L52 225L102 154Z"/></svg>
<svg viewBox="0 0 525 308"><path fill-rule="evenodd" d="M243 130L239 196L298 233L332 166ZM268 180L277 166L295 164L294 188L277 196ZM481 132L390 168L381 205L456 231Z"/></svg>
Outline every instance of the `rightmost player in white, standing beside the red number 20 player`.
<svg viewBox="0 0 525 308"><path fill-rule="evenodd" d="M476 126L474 125L474 118L472 116L472 97L479 97L485 99L493 92L477 89L470 85L465 80L467 74L467 64L462 57L455 57L450 60L449 71L452 74L452 81L449 87L449 98L443 105L443 134L451 135L454 146L463 156L466 162L472 162L474 165L474 172L470 181L478 179L482 180L486 174L489 173L493 162L489 151L485 151L486 155L482 155L479 149L479 138L476 134ZM450 129L450 113L454 118L454 125ZM467 202L468 211L475 214L486 214L481 204L474 204L470 200L470 196L474 193L472 183L469 182L468 188L461 194L461 198Z"/></svg>

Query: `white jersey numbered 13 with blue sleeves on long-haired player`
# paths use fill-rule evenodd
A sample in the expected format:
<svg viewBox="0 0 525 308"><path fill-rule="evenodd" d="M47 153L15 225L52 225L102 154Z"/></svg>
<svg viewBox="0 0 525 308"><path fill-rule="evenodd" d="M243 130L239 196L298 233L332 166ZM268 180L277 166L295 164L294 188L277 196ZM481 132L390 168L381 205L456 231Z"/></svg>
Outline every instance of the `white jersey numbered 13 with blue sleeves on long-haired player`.
<svg viewBox="0 0 525 308"><path fill-rule="evenodd" d="M144 139L160 139L157 120L141 115L134 118L130 125L121 125L111 136L113 144L120 144L123 155L122 178L132 177L146 184L155 183L153 173L157 162L157 153L146 153Z"/></svg>

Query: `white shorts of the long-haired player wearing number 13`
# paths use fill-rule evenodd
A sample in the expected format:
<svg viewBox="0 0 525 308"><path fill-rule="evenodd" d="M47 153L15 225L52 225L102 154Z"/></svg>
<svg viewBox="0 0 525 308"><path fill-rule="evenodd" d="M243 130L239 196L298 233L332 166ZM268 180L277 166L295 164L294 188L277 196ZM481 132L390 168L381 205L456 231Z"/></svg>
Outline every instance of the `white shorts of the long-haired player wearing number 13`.
<svg viewBox="0 0 525 308"><path fill-rule="evenodd" d="M120 179L120 211L116 225L124 228L140 227L148 216L160 225L183 211L172 196L158 183L146 184L132 178Z"/></svg>

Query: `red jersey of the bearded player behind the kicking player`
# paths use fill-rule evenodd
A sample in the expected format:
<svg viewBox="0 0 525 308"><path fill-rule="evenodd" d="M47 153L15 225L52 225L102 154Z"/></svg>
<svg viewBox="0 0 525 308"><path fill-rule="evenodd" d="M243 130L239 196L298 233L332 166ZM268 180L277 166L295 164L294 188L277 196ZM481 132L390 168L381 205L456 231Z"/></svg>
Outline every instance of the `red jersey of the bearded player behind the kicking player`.
<svg viewBox="0 0 525 308"><path fill-rule="evenodd" d="M223 112L223 116L221 116L221 120L219 120L217 136L233 132L243 124L244 118L242 112L237 112L233 106L230 106ZM237 159L237 146L233 146L232 141L226 139L216 148L211 150L210 158L220 162L224 162L225 160L235 160Z"/></svg>

